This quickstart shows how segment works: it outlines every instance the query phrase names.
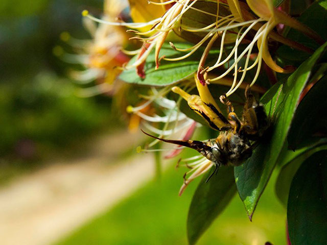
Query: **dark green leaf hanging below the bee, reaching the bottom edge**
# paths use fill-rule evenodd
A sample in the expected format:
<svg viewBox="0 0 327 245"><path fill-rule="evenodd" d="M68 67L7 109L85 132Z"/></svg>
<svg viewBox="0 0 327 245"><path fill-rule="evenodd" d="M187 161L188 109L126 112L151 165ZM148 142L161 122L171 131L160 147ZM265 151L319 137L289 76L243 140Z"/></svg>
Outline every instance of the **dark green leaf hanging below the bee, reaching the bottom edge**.
<svg viewBox="0 0 327 245"><path fill-rule="evenodd" d="M236 193L232 167L220 167L205 183L210 174L203 176L193 195L187 222L190 244L196 243Z"/></svg>

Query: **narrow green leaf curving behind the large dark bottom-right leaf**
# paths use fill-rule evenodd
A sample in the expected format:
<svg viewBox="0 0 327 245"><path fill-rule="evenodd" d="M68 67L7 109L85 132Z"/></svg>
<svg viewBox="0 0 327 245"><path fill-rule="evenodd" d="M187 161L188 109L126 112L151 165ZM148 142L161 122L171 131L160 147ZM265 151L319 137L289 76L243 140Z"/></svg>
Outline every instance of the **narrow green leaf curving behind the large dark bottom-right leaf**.
<svg viewBox="0 0 327 245"><path fill-rule="evenodd" d="M285 207L287 207L287 199L290 191L291 182L297 169L299 168L301 163L305 161L308 157L310 157L312 154L321 150L327 150L326 144L327 140L322 139L312 146L297 150L295 152L287 150L286 147L286 151L283 154L283 158L281 158L281 156L278 158L278 162L282 166L282 169L279 171L276 180L275 192L277 198Z"/></svg>

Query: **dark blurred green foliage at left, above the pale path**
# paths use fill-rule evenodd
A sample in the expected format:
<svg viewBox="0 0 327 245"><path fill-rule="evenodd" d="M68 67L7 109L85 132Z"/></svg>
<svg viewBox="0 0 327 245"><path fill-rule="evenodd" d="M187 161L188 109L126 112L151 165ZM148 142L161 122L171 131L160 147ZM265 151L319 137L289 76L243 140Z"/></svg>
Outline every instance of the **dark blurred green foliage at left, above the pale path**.
<svg viewBox="0 0 327 245"><path fill-rule="evenodd" d="M55 46L65 45L59 38L63 31L90 38L81 11L100 14L102 5L100 0L1 1L0 182L109 130L110 120L118 119L108 96L76 96L78 87L66 76L72 65L53 55Z"/></svg>

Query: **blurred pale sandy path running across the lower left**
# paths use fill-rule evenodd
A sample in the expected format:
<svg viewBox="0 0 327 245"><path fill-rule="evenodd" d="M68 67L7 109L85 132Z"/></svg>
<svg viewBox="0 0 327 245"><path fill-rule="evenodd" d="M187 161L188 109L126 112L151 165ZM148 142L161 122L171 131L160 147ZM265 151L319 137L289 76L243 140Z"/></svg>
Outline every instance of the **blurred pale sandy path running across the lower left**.
<svg viewBox="0 0 327 245"><path fill-rule="evenodd" d="M99 138L86 158L50 163L1 187L1 244L50 244L152 178L151 154L109 164L140 138L128 133Z"/></svg>

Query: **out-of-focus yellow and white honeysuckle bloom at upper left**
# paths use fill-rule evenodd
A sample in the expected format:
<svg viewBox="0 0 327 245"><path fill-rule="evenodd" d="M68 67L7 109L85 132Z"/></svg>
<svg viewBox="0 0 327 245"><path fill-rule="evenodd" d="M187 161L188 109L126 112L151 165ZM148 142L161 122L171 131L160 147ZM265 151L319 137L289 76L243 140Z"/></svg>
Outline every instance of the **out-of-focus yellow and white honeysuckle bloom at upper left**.
<svg viewBox="0 0 327 245"><path fill-rule="evenodd" d="M121 13L128 7L127 1L107 0L104 3L105 21L114 21L122 18ZM85 14L85 12L84 12ZM68 33L62 33L61 39L71 45L76 54L63 54L66 62L78 63L84 66L84 70L73 70L69 75L78 83L97 81L97 86L80 90L81 96L91 96L118 89L113 85L115 78L121 73L118 67L129 61L121 48L127 44L128 36L122 27L109 26L99 23L96 26L94 21L83 19L84 26L92 39L78 40L72 38Z"/></svg>

